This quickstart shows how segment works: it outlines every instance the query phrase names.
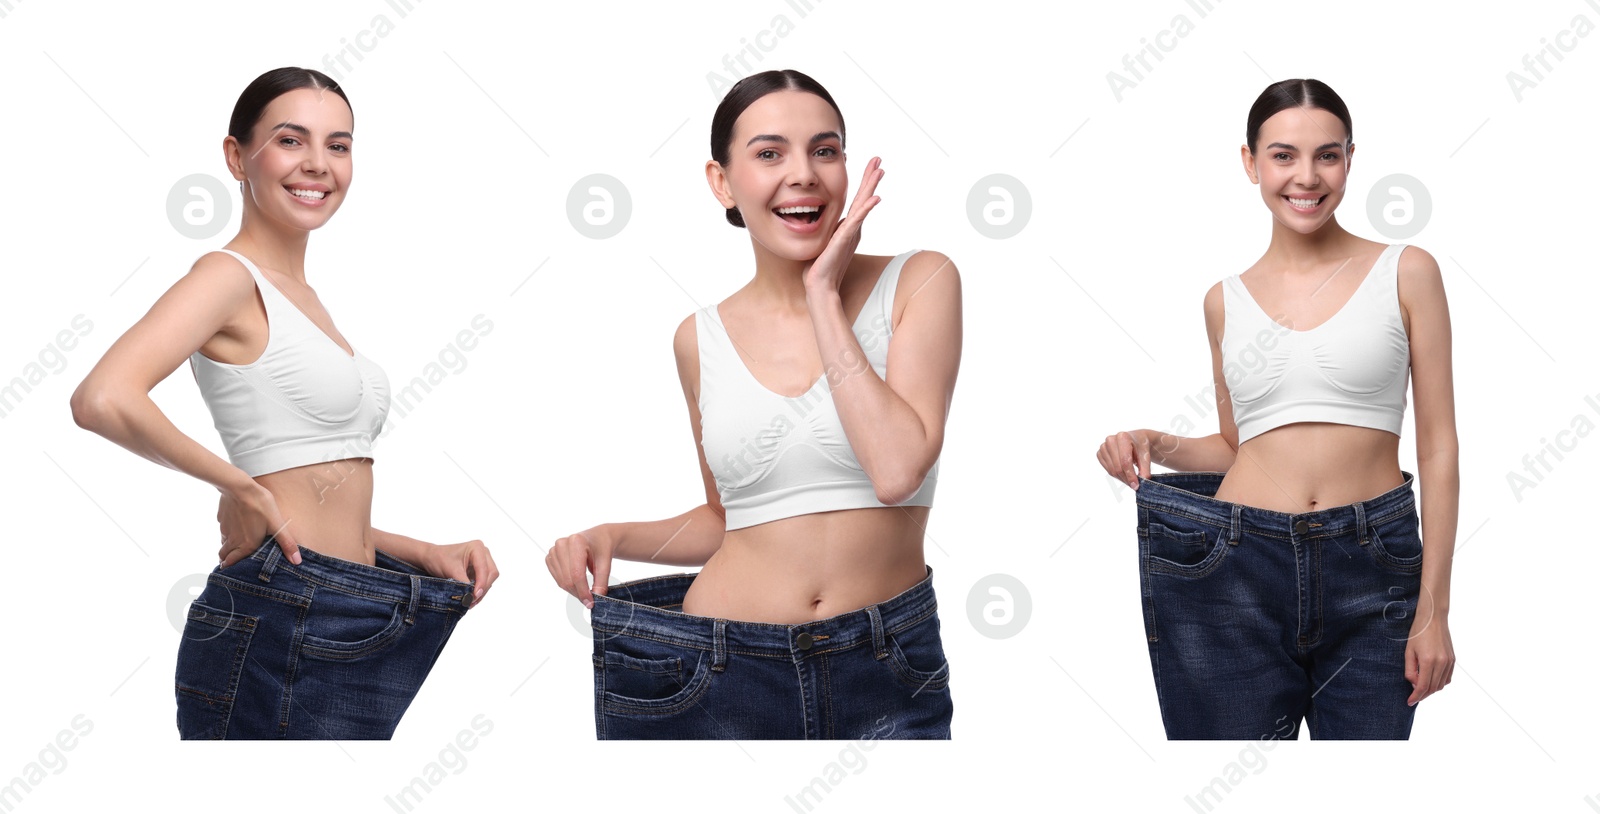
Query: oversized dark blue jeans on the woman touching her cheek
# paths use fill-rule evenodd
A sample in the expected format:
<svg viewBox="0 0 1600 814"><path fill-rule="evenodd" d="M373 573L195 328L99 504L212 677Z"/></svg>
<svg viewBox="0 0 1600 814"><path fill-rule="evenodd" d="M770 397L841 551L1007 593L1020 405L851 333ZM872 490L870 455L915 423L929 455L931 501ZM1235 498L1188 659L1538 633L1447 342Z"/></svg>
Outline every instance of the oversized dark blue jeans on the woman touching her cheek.
<svg viewBox="0 0 1600 814"><path fill-rule="evenodd" d="M678 612L693 581L595 595L602 740L950 737L931 571L888 601L798 625Z"/></svg>

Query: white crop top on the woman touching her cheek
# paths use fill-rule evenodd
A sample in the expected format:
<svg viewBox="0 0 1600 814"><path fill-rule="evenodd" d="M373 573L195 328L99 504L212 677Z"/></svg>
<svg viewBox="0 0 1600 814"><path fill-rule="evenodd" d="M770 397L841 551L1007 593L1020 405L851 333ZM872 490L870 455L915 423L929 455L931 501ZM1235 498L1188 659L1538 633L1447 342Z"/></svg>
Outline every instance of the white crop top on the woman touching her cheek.
<svg viewBox="0 0 1600 814"><path fill-rule="evenodd" d="M894 288L912 254L890 261L853 326L880 377L888 376ZM717 305L694 313L694 334L701 363L701 448L726 510L728 531L814 512L890 505L878 501L856 462L834 408L827 369L810 390L789 398L768 390L744 365ZM938 477L934 461L917 494L901 505L933 505Z"/></svg>

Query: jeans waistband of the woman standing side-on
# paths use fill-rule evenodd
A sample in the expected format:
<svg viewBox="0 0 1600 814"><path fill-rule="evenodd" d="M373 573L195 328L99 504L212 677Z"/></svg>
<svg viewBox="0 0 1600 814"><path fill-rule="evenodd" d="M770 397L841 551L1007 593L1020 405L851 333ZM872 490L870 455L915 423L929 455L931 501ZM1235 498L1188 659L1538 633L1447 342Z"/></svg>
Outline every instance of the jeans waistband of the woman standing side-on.
<svg viewBox="0 0 1600 814"><path fill-rule="evenodd" d="M410 563L384 552L374 552L376 565L341 560L317 553L304 545L299 552L301 565L294 565L283 557L277 542L262 544L256 553L250 555L251 560L261 563L256 579L270 584L274 574L290 573L312 585L405 603L408 619L416 608L464 611L472 605L470 584L424 574Z"/></svg>

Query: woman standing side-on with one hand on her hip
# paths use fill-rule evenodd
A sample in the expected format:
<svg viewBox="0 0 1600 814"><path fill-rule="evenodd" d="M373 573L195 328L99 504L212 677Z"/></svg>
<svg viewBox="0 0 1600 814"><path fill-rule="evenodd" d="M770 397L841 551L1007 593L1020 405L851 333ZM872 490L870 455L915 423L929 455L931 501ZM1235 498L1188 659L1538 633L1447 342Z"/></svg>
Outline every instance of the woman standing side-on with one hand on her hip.
<svg viewBox="0 0 1600 814"><path fill-rule="evenodd" d="M350 187L354 114L306 69L269 70L222 154L238 235L128 329L72 393L80 427L221 493L221 563L178 649L186 739L387 739L498 571L482 541L371 528L389 379L306 283L306 241ZM149 392L189 360L229 461Z"/></svg>

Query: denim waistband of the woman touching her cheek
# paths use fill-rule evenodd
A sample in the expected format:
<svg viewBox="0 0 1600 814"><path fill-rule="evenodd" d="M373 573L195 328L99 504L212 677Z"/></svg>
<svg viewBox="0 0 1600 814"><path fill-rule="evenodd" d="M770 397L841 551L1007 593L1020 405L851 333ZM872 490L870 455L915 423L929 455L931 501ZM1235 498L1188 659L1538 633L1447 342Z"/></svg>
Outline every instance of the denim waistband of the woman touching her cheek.
<svg viewBox="0 0 1600 814"><path fill-rule="evenodd" d="M694 576L672 574L611 585L606 595L595 595L590 625L600 633L712 651L712 668L720 670L730 652L798 660L872 644L874 654L888 656L883 640L886 633L915 625L938 611L933 568L928 568L922 582L891 600L795 625L738 622L666 609L683 605Z"/></svg>

